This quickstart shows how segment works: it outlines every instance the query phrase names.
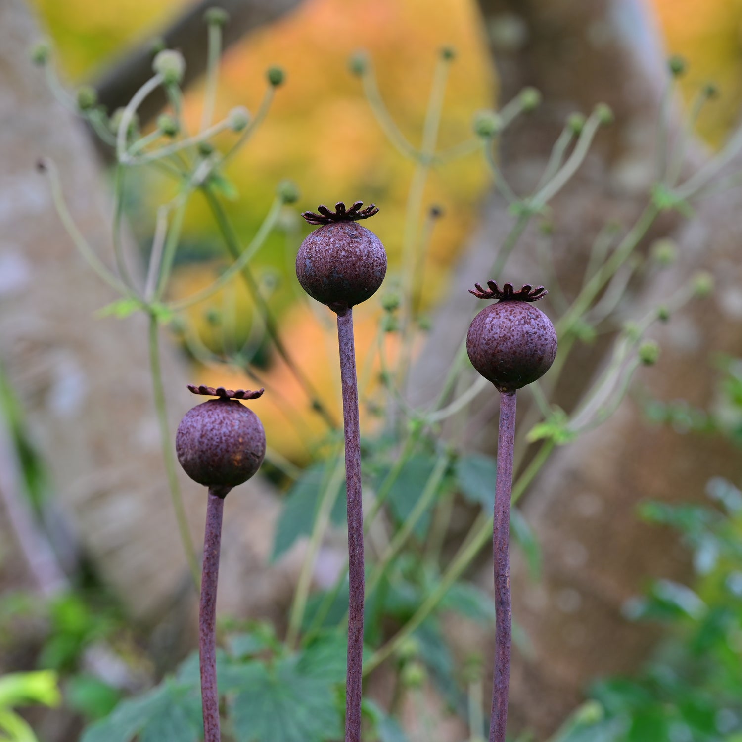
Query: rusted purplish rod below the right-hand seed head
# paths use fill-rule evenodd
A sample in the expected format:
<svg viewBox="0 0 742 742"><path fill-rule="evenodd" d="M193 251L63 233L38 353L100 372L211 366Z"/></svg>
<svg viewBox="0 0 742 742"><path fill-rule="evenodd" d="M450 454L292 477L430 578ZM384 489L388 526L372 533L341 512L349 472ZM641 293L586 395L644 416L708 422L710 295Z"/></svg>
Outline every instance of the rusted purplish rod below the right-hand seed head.
<svg viewBox="0 0 742 742"><path fill-rule="evenodd" d="M495 669L492 679L490 742L505 742L510 686L510 643L513 612L510 607L510 493L513 490L516 392L500 393L500 427L497 436L497 480L492 525L495 568Z"/></svg>

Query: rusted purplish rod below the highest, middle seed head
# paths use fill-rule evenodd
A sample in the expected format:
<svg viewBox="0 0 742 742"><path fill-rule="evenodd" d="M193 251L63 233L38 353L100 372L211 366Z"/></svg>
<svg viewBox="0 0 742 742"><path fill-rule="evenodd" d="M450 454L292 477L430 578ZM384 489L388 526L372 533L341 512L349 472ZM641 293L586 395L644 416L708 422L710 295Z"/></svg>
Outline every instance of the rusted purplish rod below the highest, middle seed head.
<svg viewBox="0 0 742 742"><path fill-rule="evenodd" d="M345 742L361 742L361 685L364 657L364 511L361 499L361 430L358 425L358 379L355 374L353 310L338 311L340 375L345 427L345 479L348 500L348 666Z"/></svg>

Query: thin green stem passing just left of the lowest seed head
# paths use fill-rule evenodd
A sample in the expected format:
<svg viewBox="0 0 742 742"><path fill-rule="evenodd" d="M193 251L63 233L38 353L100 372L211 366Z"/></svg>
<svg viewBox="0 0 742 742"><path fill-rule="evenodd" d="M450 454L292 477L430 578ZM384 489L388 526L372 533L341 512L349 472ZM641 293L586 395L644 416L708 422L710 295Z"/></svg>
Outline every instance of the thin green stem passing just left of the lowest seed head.
<svg viewBox="0 0 742 742"><path fill-rule="evenodd" d="M180 533L180 542L183 544L185 558L188 560L188 568L191 571L191 577L193 578L196 591L199 591L200 574L198 557L191 537L191 530L188 528L188 519L185 516L185 507L183 506L183 494L180 492L180 482L178 482L177 467L175 466L170 426L168 424L168 409L165 401L165 387L164 384L162 384L159 324L157 322L157 317L154 315L150 315L149 318L149 362L152 377L152 390L154 392L154 407L155 410L157 410L157 423L160 426L162 458L165 461L165 471L168 475L170 498L173 504L173 510L175 511L175 519L178 525L178 532Z"/></svg>

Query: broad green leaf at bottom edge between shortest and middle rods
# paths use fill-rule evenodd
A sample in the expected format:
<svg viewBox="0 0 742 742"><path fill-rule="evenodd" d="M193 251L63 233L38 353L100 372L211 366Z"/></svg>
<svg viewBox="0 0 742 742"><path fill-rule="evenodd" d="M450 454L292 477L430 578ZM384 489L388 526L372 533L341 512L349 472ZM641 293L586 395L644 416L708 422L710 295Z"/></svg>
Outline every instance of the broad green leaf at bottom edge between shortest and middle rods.
<svg viewBox="0 0 742 742"><path fill-rule="evenodd" d="M300 672L295 657L271 668L243 666L229 710L237 742L324 742L342 735L332 685Z"/></svg>

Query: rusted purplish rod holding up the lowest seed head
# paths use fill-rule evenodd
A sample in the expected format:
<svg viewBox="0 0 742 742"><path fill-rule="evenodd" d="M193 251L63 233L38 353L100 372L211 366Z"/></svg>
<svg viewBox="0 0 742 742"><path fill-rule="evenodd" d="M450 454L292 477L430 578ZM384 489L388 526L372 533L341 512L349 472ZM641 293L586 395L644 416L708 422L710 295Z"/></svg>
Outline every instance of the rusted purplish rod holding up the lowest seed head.
<svg viewBox="0 0 742 742"><path fill-rule="evenodd" d="M201 670L201 706L204 742L220 742L217 690L217 582L222 541L223 490L209 490L206 531L203 536L201 600L198 610L198 656Z"/></svg>

